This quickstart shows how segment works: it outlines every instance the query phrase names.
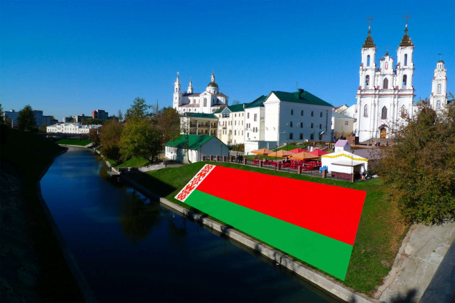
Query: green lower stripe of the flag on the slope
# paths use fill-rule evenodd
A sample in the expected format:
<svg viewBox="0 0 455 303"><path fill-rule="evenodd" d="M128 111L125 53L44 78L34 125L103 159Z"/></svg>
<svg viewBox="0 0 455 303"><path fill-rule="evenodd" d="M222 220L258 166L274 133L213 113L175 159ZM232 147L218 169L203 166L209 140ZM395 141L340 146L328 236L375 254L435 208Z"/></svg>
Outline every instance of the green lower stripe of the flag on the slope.
<svg viewBox="0 0 455 303"><path fill-rule="evenodd" d="M202 191L193 191L185 203L335 277L346 277L352 245Z"/></svg>

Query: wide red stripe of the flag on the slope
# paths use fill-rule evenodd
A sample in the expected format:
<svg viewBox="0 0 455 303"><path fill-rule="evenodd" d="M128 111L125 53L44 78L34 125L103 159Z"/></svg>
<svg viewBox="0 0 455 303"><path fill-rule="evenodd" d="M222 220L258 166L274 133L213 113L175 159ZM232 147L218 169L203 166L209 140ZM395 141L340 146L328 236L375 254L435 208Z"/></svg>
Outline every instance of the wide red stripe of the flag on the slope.
<svg viewBox="0 0 455 303"><path fill-rule="evenodd" d="M210 195L354 245L366 192L215 166L197 187Z"/></svg>

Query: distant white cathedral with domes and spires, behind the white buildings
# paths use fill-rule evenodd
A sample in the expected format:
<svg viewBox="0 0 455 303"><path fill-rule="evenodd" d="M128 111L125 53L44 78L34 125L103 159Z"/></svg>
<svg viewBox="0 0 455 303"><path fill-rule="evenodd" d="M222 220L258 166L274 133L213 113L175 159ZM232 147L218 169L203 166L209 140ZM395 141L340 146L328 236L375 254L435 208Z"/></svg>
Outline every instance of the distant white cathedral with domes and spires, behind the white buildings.
<svg viewBox="0 0 455 303"><path fill-rule="evenodd" d="M228 99L229 96L220 93L220 87L215 82L215 73L212 73L212 80L208 83L205 92L193 92L192 81L190 80L188 91L183 92L183 94L181 93L179 73L177 73L172 107L179 114L185 114L186 112L212 114L220 110L221 107L227 106Z"/></svg>

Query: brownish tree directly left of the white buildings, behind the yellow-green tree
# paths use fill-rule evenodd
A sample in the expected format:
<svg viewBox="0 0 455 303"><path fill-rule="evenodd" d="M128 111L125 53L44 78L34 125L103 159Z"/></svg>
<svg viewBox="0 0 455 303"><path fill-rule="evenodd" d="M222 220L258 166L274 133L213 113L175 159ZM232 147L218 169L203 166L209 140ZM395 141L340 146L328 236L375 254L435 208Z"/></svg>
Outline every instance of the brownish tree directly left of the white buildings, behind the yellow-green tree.
<svg viewBox="0 0 455 303"><path fill-rule="evenodd" d="M180 115L172 107L163 107L154 116L156 128L161 132L161 144L177 139L180 135Z"/></svg>

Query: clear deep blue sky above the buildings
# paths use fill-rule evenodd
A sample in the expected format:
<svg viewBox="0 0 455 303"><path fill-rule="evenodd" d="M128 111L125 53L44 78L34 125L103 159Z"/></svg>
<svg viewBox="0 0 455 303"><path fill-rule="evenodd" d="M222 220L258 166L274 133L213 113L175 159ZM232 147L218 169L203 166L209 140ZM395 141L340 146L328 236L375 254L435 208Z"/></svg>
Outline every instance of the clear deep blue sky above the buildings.
<svg viewBox="0 0 455 303"><path fill-rule="evenodd" d="M431 93L442 53L455 93L455 1L1 1L4 110L30 104L61 120L125 112L134 98L172 105L176 72L203 92L212 69L240 103L296 81L334 106L356 102L372 16L377 64L414 43L417 97Z"/></svg>

